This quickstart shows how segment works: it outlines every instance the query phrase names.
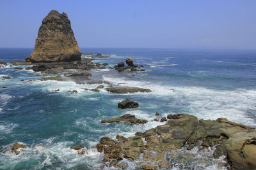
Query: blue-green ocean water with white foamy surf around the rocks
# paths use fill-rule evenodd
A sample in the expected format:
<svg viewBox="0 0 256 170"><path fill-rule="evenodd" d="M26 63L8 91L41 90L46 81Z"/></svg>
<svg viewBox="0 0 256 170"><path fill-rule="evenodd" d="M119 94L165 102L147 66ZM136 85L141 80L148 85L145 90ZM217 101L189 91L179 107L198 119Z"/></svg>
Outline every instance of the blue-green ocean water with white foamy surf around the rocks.
<svg viewBox="0 0 256 170"><path fill-rule="evenodd" d="M10 62L24 60L32 48L0 48L0 169L99 169L103 154L95 146L102 136L125 137L143 132L161 122L151 122L156 112L189 113L198 118L228 118L232 122L256 127L256 51L186 50L147 48L81 48L82 52L111 55L95 62L113 66L132 57L147 71L118 73L115 70L92 70L93 77L113 84L145 87L150 93L110 94L86 91L98 85L74 82L29 81L42 76L33 71L13 70ZM83 56L85 57L85 56ZM24 68L28 66L22 66ZM3 80L10 76L10 80ZM20 81L24 80L24 81ZM26 83L24 83L26 82ZM107 86L104 84L104 86ZM3 89L2 87L7 87ZM59 92L52 90L60 89ZM71 94L77 90L77 94ZM120 110L125 98L138 101L139 108ZM147 119L144 125L101 124L100 120L130 113ZM28 148L19 155L10 152L13 143ZM44 144L45 147L36 147ZM70 146L84 145L88 155L77 155ZM224 157L214 159L198 148L186 148L166 154L171 169L225 169L219 167ZM138 169L137 161L122 160L127 169ZM115 169L114 167L111 167ZM105 167L109 169L109 167Z"/></svg>

